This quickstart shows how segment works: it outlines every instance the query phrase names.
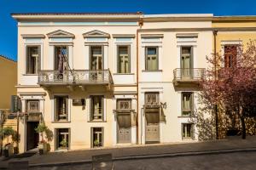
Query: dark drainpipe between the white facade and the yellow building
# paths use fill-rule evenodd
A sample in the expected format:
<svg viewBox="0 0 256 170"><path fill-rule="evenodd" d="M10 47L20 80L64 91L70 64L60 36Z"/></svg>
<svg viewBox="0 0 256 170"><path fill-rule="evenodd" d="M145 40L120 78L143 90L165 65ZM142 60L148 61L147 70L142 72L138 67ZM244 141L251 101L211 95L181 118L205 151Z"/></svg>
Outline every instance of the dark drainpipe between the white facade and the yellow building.
<svg viewBox="0 0 256 170"><path fill-rule="evenodd" d="M217 81L217 49L216 49L216 37L218 34L218 30L213 30L213 38L214 38L214 81ZM218 139L218 105L214 105L215 112L215 128L216 128L216 139Z"/></svg>

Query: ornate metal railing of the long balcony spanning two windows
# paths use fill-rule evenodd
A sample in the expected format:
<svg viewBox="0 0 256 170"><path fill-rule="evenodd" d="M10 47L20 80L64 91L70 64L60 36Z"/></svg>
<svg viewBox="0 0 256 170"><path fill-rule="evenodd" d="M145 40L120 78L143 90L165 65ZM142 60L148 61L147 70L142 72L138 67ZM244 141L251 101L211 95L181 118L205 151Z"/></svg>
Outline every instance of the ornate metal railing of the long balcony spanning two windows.
<svg viewBox="0 0 256 170"><path fill-rule="evenodd" d="M38 71L38 84L113 83L109 70Z"/></svg>

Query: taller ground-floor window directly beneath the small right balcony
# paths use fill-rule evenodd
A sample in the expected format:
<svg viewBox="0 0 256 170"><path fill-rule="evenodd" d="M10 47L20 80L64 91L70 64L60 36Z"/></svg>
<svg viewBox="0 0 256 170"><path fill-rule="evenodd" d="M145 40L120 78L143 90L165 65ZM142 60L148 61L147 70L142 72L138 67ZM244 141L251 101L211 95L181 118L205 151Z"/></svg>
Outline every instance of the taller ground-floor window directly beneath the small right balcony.
<svg viewBox="0 0 256 170"><path fill-rule="evenodd" d="M182 116L191 116L193 108L193 93L182 93Z"/></svg>

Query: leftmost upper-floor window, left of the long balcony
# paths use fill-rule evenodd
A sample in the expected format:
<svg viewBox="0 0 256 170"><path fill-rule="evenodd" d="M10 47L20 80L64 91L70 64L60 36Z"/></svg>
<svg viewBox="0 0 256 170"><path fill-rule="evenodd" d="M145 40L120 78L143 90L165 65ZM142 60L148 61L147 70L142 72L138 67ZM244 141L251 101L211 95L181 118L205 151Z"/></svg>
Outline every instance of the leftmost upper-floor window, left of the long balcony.
<svg viewBox="0 0 256 170"><path fill-rule="evenodd" d="M26 74L38 74L40 46L26 47Z"/></svg>

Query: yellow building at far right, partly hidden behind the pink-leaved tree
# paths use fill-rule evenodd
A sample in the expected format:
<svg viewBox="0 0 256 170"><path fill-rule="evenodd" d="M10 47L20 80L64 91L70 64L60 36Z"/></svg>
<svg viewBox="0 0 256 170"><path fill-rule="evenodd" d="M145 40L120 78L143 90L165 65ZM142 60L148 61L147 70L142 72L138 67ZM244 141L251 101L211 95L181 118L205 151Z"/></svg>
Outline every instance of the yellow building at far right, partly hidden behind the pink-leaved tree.
<svg viewBox="0 0 256 170"><path fill-rule="evenodd" d="M212 31L213 53L216 48L216 53L224 57L224 67L230 67L233 61L236 60L237 47L242 46L247 48L248 42L256 40L256 16L214 17L212 19ZM221 117L221 115L218 115L218 135L219 138L224 138L227 133L226 130L239 129L240 127L233 127L232 121ZM233 121L240 122L238 117Z"/></svg>

